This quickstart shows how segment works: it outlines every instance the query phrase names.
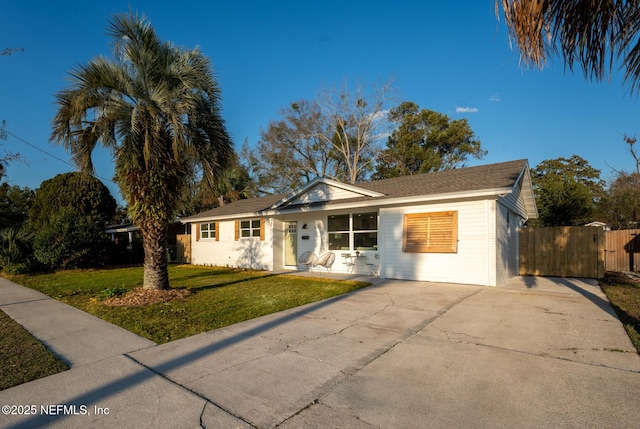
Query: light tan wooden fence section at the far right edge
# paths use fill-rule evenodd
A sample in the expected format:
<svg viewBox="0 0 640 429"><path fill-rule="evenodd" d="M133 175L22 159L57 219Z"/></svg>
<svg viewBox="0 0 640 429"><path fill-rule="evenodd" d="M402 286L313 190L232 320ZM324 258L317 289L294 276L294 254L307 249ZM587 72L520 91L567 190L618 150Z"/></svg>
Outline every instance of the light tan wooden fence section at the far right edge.
<svg viewBox="0 0 640 429"><path fill-rule="evenodd" d="M605 232L605 267L609 271L640 271L640 229Z"/></svg>

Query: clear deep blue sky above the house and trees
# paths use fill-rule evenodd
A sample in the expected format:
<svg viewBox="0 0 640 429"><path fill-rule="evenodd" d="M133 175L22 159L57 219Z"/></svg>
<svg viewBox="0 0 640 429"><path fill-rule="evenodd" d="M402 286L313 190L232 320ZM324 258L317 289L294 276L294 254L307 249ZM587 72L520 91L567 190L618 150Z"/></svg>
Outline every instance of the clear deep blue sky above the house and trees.
<svg viewBox="0 0 640 429"><path fill-rule="evenodd" d="M560 59L523 69L498 22L493 0L467 1L11 1L0 6L0 119L26 143L7 179L37 188L73 167L49 142L54 94L74 66L109 55L108 19L129 9L147 15L159 36L199 46L214 66L223 117L239 150L292 101L325 87L395 78L400 101L466 118L489 153L469 165L580 155L602 171L631 169L624 133L638 132L640 101L614 72L587 82ZM101 178L113 176L106 152L94 157ZM105 182L120 200L117 187Z"/></svg>

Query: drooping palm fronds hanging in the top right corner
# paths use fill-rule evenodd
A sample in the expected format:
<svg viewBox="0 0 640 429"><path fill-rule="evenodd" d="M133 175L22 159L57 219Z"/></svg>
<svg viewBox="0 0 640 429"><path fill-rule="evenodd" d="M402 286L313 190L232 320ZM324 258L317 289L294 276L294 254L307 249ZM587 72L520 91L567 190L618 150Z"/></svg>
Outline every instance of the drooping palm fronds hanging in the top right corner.
<svg viewBox="0 0 640 429"><path fill-rule="evenodd" d="M640 89L640 1L496 0L525 65L542 67L559 50L569 69L602 80L621 60L631 92Z"/></svg>

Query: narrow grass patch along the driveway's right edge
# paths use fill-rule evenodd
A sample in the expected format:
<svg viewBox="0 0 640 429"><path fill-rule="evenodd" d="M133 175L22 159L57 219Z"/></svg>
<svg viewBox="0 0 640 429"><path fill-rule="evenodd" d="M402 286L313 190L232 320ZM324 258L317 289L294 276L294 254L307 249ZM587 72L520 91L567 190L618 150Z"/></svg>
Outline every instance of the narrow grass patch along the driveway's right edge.
<svg viewBox="0 0 640 429"><path fill-rule="evenodd" d="M607 272L600 286L640 353L640 282Z"/></svg>

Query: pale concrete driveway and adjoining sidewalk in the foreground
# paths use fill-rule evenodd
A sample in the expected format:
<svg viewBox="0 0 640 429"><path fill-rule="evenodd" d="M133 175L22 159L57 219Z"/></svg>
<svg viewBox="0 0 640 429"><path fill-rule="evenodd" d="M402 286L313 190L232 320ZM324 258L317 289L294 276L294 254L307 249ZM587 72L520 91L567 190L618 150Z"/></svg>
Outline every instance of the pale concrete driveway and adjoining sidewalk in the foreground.
<svg viewBox="0 0 640 429"><path fill-rule="evenodd" d="M17 288L0 283L1 308L27 324ZM67 310L48 323L69 329ZM72 317L93 330L79 338L101 338L104 322ZM103 358L0 392L37 406L0 427L631 428L640 415L640 357L592 281L383 281L159 346L112 329ZM67 332L48 344L75 349L55 345ZM79 412L43 415L52 404Z"/></svg>

